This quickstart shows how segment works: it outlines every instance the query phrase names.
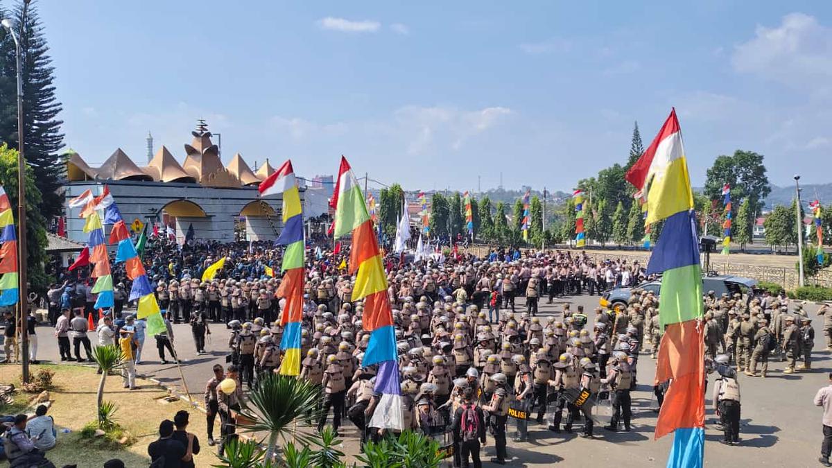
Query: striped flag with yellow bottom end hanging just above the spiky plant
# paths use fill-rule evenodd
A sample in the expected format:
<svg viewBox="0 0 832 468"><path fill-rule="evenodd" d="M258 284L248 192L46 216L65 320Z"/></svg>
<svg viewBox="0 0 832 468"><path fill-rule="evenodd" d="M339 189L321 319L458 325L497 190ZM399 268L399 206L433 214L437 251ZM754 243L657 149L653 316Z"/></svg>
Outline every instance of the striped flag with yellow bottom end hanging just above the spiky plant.
<svg viewBox="0 0 832 468"><path fill-rule="evenodd" d="M287 160L274 174L260 183L260 196L283 194L283 230L277 237L277 244L286 246L283 252L283 281L277 288L277 296L286 304L280 316L284 326L280 349L285 352L280 364L280 374L300 375L300 322L304 311L304 217L300 205L300 192L295 180L291 160ZM362 202L364 198L362 197Z"/></svg>

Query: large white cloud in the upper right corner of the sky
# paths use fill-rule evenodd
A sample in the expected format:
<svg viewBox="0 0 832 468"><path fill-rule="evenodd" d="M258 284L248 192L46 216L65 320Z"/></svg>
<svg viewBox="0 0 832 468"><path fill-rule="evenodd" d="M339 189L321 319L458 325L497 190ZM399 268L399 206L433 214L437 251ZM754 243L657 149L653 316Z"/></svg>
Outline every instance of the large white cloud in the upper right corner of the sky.
<svg viewBox="0 0 832 468"><path fill-rule="evenodd" d="M795 12L779 27L757 26L755 37L734 48L735 71L795 87L828 87L832 78L832 29ZM814 90L810 90L814 91Z"/></svg>

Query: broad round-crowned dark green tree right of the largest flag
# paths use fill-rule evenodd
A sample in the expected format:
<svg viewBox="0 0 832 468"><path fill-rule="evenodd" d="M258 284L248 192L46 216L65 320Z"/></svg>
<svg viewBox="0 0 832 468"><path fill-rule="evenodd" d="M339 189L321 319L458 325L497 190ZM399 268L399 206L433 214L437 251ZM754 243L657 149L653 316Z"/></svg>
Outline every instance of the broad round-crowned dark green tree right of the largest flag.
<svg viewBox="0 0 832 468"><path fill-rule="evenodd" d="M763 200L771 192L763 159L759 153L742 150L736 150L732 156L716 157L713 166L706 172L702 192L711 200L721 200L722 187L727 183L731 199L749 197L751 212L759 213Z"/></svg>

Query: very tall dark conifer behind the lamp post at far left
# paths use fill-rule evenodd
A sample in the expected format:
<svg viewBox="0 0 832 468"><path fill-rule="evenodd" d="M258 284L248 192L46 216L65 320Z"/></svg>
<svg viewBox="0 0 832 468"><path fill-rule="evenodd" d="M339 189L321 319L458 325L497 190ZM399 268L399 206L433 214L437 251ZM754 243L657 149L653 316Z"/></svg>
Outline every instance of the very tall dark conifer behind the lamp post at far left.
<svg viewBox="0 0 832 468"><path fill-rule="evenodd" d="M26 22L21 27L26 9ZM62 106L55 96L54 67L37 8L19 2L11 17L12 27L20 34L25 155L42 197L37 209L42 217L51 219L63 212L62 195L57 190L65 171L58 155L58 150L63 147L63 122L57 120ZM3 29L0 37L3 44L0 74L4 77L0 83L0 142L17 147L17 96L16 85L12 84L16 82L17 74L12 38L6 36Z"/></svg>

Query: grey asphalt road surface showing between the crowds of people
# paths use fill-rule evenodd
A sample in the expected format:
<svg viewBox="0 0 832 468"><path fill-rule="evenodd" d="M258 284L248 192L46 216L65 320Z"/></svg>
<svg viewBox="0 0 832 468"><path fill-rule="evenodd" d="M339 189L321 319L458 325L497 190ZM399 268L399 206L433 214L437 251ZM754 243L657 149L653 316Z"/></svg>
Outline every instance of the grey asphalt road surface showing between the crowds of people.
<svg viewBox="0 0 832 468"><path fill-rule="evenodd" d="M520 310L518 300L518 311ZM597 296L574 296L542 304L542 316L559 316L562 304L583 305L592 311L597 305ZM816 306L807 306L810 316L815 317ZM815 350L825 347L824 336L820 333L822 321L815 320ZM176 349L182 358L181 369L188 389L196 400L201 401L201 392L211 375L214 364L225 364L225 344L228 332L225 326L212 327L214 333L207 343L210 355L197 356L191 340L190 328L181 324L174 326ZM39 358L56 361L57 341L47 327L38 328ZM165 385L182 391L181 377L175 365L162 365L156 354L153 341L147 341L145 361L139 371L146 376L162 381ZM711 399L707 398L709 421L706 431L706 463L721 466L818 466L820 453L821 411L813 406L815 392L828 385L830 353L815 351L815 364L810 372L784 375L783 363L770 363L770 376L754 379L740 375L742 391L742 423L740 426L742 446L728 447L716 443L721 432L713 429L715 417L710 409ZM599 429L594 440L584 440L575 434L554 434L544 426L532 423L529 427L530 441L517 444L509 440L509 455L513 456L512 466L548 466L562 462L562 466L615 466L616 468L665 466L671 446L671 436L653 441L656 413L651 411L651 386L645 385L655 375L655 361L642 355L638 363L641 385L633 393L633 431L610 434ZM711 379L712 381L712 379ZM345 436L344 451L357 451L356 431L349 422L342 431ZM493 456L493 440L488 439L484 448L485 457ZM488 463L485 466L489 466Z"/></svg>

